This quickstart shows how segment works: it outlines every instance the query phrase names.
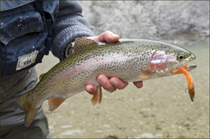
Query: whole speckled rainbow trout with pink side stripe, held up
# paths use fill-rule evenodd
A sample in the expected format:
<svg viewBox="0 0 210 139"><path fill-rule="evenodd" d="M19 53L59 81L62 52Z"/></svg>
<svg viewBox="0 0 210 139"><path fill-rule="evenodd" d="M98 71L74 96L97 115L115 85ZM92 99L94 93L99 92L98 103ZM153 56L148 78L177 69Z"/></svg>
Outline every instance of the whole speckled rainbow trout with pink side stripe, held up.
<svg viewBox="0 0 210 139"><path fill-rule="evenodd" d="M135 82L175 75L177 73L172 71L184 66L187 71L196 67L187 65L196 59L192 52L161 41L120 39L107 43L76 38L72 49L70 56L40 75L38 84L16 100L25 112L26 127L45 100L48 100L49 111L53 111L67 98L84 91L88 84L96 88L92 104L100 104L102 89L97 82L100 74Z"/></svg>

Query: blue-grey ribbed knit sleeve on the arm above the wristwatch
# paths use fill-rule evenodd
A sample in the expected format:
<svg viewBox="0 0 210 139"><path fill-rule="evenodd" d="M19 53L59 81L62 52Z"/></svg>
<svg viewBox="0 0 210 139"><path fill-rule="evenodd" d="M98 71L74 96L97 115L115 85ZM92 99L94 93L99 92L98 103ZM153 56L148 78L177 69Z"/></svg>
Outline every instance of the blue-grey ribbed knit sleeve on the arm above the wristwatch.
<svg viewBox="0 0 210 139"><path fill-rule="evenodd" d="M77 37L94 36L89 29L87 21L82 16L82 7L78 1L64 1L59 3L52 53L60 60L65 58L65 50L68 44Z"/></svg>

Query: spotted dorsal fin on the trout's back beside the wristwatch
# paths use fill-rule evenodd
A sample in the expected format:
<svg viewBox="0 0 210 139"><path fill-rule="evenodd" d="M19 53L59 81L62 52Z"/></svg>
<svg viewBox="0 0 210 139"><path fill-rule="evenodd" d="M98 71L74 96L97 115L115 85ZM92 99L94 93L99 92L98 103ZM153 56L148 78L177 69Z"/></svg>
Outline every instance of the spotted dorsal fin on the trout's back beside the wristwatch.
<svg viewBox="0 0 210 139"><path fill-rule="evenodd" d="M80 48L90 45L90 44L94 44L97 43L94 40L88 39L88 38L76 38L75 39L75 43L74 43L74 52L76 52L77 50L79 50Z"/></svg>

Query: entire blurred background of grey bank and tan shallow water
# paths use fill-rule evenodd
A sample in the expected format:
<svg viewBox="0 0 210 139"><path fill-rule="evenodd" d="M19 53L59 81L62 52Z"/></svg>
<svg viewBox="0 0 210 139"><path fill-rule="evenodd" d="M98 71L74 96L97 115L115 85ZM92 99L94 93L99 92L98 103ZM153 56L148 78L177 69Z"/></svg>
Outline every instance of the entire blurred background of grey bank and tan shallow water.
<svg viewBox="0 0 210 139"><path fill-rule="evenodd" d="M48 117L51 138L209 138L209 1L80 1L96 35L110 30L121 38L176 44L197 59L190 72L195 85L192 103L186 77L175 75L130 83L92 106L82 92L67 99ZM38 75L59 60L52 54L36 66Z"/></svg>

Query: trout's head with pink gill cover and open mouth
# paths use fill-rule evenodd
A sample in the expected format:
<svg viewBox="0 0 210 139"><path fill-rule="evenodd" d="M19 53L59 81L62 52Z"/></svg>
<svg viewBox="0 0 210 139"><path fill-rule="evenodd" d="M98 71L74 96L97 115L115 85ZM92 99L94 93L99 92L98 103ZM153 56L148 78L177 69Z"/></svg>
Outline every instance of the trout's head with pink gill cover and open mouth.
<svg viewBox="0 0 210 139"><path fill-rule="evenodd" d="M187 66L187 64L196 59L196 56L181 47L170 45L167 49L156 50L151 59L150 67L160 76L172 75L171 71ZM188 65L187 70L196 68L197 65Z"/></svg>

